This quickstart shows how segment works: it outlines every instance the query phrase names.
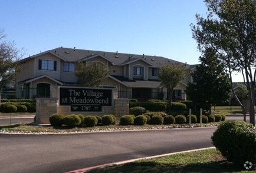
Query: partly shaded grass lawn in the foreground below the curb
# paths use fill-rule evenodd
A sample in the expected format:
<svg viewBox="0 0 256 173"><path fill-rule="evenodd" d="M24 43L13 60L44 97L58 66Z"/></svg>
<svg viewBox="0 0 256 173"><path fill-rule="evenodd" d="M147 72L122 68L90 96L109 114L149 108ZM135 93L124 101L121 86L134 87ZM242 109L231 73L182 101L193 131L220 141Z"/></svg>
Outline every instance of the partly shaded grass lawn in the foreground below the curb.
<svg viewBox="0 0 256 173"><path fill-rule="evenodd" d="M242 163L241 165L243 165ZM185 152L168 157L142 159L123 165L94 169L91 173L164 173L164 172L256 172L228 162L216 149Z"/></svg>

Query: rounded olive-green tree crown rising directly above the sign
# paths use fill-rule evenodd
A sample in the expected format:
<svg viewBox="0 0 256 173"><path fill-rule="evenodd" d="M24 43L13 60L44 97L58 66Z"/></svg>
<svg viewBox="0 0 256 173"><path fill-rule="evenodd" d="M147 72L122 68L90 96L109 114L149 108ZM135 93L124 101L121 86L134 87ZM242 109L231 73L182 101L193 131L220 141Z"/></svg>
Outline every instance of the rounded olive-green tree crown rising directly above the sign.
<svg viewBox="0 0 256 173"><path fill-rule="evenodd" d="M75 75L82 86L97 87L102 85L108 78L109 71L106 65L100 62L78 62Z"/></svg>

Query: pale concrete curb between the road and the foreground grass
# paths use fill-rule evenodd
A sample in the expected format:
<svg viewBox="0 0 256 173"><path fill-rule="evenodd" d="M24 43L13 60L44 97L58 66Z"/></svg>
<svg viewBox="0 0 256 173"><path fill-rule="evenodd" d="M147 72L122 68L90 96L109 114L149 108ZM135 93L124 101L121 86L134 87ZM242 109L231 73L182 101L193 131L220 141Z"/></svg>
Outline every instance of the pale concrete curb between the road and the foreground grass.
<svg viewBox="0 0 256 173"><path fill-rule="evenodd" d="M166 157L166 156L169 156L169 155L174 155L174 154L179 154L179 153L184 153L184 152L201 151L201 150L204 150L204 149L211 149L211 148L215 148L215 147L192 149L192 150L188 150L188 151L180 151L180 152L172 152L172 153L162 154L162 155L154 155L154 156L151 156L151 157L129 159L129 160L126 160L126 161L112 162L112 163L109 163L109 164L97 165L95 167L88 167L88 168L83 168L83 169L77 169L77 170L74 170L74 171L69 171L69 172L64 172L64 173L84 173L84 172L91 171L93 169L99 169L99 168L104 168L104 167L111 167L111 166L116 166L116 165L122 165L122 164L126 164L126 163L129 163L129 162L134 162L134 161L137 161L137 160L140 160L140 159L152 159L152 158Z"/></svg>

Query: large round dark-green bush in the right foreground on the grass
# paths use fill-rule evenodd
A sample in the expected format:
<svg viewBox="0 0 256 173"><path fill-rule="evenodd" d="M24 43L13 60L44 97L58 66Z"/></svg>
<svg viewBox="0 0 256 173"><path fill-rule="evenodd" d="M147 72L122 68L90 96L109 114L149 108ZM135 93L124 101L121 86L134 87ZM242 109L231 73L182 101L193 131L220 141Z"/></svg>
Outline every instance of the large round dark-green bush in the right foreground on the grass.
<svg viewBox="0 0 256 173"><path fill-rule="evenodd" d="M229 161L243 166L256 161L256 129L244 121L225 121L211 137L212 144Z"/></svg>

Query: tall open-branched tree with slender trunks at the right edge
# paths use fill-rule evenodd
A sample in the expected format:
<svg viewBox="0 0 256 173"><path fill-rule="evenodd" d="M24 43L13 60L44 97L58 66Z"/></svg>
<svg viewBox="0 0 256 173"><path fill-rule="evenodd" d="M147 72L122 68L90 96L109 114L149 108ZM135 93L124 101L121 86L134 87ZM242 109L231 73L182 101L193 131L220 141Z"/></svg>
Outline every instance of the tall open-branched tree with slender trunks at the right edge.
<svg viewBox="0 0 256 173"><path fill-rule="evenodd" d="M196 14L196 25L191 25L193 38L202 55L207 48L214 49L231 83L232 73L242 73L250 99L250 123L255 125L256 1L205 0L205 4L207 17ZM245 115L244 106L239 104Z"/></svg>

